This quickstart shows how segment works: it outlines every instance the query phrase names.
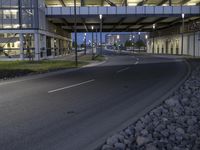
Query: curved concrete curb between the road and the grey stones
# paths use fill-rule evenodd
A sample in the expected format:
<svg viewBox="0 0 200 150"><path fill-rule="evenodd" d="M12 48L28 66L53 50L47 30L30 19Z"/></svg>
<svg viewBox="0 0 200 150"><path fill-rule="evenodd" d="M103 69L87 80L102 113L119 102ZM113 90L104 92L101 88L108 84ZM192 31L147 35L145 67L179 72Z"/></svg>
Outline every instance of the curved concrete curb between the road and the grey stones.
<svg viewBox="0 0 200 150"><path fill-rule="evenodd" d="M128 126L130 126L131 124L133 124L134 122L136 122L139 118L141 118L142 116L144 116L145 114L147 114L148 112L150 112L152 109L156 108L157 106L159 106L162 102L164 102L169 96L171 96L173 94L174 91L176 91L191 75L191 66L190 64L183 59L184 63L187 66L187 74L186 76L173 88L170 89L170 91L163 95L160 99L158 99L155 103L153 103L152 105L146 107L141 113L137 114L136 116L134 116L133 118L131 118L130 120L126 121L125 123L123 123L122 125L120 125L120 128L115 130L115 133L120 132L123 129L126 129ZM113 133L113 134L115 134ZM110 135L111 136L111 135ZM108 137L107 137L108 138ZM104 139L103 142L105 142L106 139ZM101 146L103 143L99 143L98 146L96 146L96 148L94 148L94 150L101 150Z"/></svg>

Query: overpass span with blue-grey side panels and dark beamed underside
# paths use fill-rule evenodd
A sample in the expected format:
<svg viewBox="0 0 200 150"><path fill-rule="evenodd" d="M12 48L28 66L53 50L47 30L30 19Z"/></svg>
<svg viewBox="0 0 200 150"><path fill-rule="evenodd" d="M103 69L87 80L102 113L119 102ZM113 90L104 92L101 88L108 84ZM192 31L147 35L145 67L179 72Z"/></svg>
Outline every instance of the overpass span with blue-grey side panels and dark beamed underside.
<svg viewBox="0 0 200 150"><path fill-rule="evenodd" d="M200 18L199 6L118 6L77 7L77 31L90 32L91 26L100 28L99 14L103 15L103 32L152 31L152 25L164 29ZM47 7L46 16L65 30L73 32L74 7Z"/></svg>

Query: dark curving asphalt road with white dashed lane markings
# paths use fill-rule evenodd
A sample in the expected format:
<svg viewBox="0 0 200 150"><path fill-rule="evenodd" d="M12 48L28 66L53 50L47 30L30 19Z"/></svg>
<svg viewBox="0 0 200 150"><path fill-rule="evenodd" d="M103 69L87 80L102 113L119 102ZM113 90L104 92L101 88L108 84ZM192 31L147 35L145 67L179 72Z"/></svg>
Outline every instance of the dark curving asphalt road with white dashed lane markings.
<svg viewBox="0 0 200 150"><path fill-rule="evenodd" d="M0 83L0 149L92 150L187 73L181 59L106 55L100 66Z"/></svg>

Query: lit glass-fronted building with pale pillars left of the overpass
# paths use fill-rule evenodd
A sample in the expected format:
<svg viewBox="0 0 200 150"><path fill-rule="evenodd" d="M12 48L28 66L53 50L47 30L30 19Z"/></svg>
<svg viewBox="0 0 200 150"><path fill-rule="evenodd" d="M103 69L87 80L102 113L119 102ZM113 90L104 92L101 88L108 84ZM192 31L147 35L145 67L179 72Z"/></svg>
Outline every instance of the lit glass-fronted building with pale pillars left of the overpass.
<svg viewBox="0 0 200 150"><path fill-rule="evenodd" d="M66 54L70 37L46 19L44 0L0 0L2 57L39 60Z"/></svg>

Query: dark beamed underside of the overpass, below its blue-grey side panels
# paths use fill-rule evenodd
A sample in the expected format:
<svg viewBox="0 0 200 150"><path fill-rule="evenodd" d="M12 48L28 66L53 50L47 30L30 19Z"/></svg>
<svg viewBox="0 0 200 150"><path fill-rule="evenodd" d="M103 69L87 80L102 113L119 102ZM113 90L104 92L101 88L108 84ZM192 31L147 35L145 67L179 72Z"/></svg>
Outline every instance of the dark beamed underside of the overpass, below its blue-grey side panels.
<svg viewBox="0 0 200 150"><path fill-rule="evenodd" d="M185 23L199 20L200 17L187 17ZM74 31L74 17L58 16L49 18L49 20L63 29L73 32ZM156 30L162 30L172 26L182 24L181 17L135 17L135 16L104 16L103 17L103 32L151 32L152 25L156 24ZM91 32L91 27L99 31L100 19L99 16L78 16L77 18L77 31L78 32Z"/></svg>

